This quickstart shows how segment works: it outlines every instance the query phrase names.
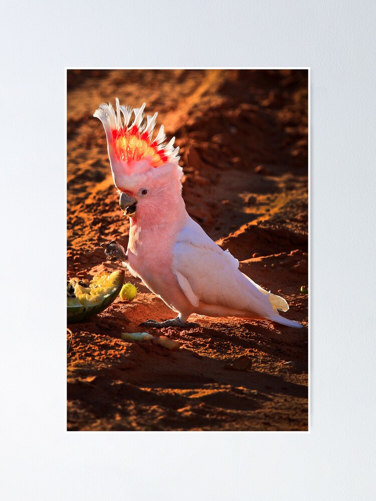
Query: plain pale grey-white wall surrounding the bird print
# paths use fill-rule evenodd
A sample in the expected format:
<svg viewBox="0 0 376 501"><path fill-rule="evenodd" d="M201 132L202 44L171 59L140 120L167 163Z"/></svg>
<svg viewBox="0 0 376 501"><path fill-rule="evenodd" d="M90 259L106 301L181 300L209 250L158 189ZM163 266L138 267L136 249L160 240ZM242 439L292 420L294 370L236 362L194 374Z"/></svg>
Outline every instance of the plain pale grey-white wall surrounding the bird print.
<svg viewBox="0 0 376 501"><path fill-rule="evenodd" d="M0 11L4 498L372 499L374 2ZM311 67L310 434L64 432L66 66Z"/></svg>

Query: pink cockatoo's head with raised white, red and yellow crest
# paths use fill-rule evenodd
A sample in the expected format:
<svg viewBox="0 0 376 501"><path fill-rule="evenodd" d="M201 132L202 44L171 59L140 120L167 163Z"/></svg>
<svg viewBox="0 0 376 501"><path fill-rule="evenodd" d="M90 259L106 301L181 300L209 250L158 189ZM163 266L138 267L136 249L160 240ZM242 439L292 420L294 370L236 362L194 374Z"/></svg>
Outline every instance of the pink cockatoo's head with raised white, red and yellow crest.
<svg viewBox="0 0 376 501"><path fill-rule="evenodd" d="M120 106L116 98L116 113L111 104L102 104L94 117L102 122L114 184L120 194L123 212L134 220L148 222L166 216L181 198L181 167L175 138L165 144L163 125L155 139L152 134L157 113L143 121L143 110ZM131 118L134 119L131 122ZM131 122L131 123L130 123Z"/></svg>

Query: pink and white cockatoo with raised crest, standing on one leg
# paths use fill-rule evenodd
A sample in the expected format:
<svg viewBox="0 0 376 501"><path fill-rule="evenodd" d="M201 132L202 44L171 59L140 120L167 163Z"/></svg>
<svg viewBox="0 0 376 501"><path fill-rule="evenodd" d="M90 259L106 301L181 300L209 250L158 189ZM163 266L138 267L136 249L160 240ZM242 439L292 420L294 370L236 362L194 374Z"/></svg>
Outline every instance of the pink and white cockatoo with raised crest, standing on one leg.
<svg viewBox="0 0 376 501"><path fill-rule="evenodd" d="M264 290L239 270L239 261L217 245L185 210L182 168L173 137L166 143L163 125L152 138L157 113L144 119L141 108L102 104L95 111L104 126L120 208L129 216L126 254L108 244L111 260L120 256L130 273L174 312L148 327L184 327L192 314L209 317L268 319L303 327L280 317L287 302ZM132 120L133 117L133 120Z"/></svg>

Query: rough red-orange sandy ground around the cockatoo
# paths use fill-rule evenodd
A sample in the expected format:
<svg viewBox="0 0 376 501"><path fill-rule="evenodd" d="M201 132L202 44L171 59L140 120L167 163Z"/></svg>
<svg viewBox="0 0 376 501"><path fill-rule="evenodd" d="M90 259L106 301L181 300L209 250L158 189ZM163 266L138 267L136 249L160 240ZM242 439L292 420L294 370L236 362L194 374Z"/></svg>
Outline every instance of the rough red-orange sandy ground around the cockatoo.
<svg viewBox="0 0 376 501"><path fill-rule="evenodd" d="M290 305L307 327L307 71L68 71L68 277L118 265L99 243L127 246L98 104L158 111L180 146L187 211L242 272ZM167 328L178 351L130 343L149 318L174 313L138 287L92 321L71 324L68 430L307 430L308 330L269 321L191 317ZM247 357L252 367L232 364Z"/></svg>

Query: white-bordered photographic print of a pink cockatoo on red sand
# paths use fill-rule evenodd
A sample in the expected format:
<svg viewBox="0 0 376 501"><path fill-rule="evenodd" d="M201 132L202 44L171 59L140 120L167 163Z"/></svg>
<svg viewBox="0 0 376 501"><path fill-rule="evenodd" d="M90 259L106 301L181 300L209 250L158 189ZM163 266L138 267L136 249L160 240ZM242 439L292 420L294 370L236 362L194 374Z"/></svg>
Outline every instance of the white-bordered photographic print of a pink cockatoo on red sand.
<svg viewBox="0 0 376 501"><path fill-rule="evenodd" d="M308 431L308 69L67 69L67 430Z"/></svg>

